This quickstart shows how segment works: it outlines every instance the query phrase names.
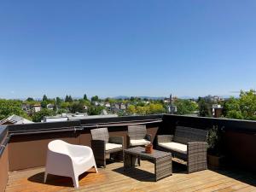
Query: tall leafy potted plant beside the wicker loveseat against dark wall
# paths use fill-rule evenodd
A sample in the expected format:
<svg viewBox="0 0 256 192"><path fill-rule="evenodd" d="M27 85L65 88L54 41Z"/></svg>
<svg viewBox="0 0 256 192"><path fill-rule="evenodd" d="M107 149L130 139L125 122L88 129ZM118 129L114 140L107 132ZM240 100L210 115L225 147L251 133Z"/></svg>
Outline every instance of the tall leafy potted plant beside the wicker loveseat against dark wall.
<svg viewBox="0 0 256 192"><path fill-rule="evenodd" d="M222 138L223 131L218 126L213 125L212 128L208 130L207 161L208 166L212 168L220 168L224 161L224 153L222 151Z"/></svg>

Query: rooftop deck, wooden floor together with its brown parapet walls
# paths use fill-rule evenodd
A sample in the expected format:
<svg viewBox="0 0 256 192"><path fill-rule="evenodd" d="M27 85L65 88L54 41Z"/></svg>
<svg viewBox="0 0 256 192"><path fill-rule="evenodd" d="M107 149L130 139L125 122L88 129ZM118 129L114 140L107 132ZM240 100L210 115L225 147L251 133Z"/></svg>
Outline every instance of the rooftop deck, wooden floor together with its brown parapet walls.
<svg viewBox="0 0 256 192"><path fill-rule="evenodd" d="M61 139L90 146L90 130L108 127L110 136L124 137L127 125L146 125L154 146L157 135L173 134L177 125L223 131L223 170L188 174L186 166L173 163L173 175L154 182L154 165L142 161L136 172L124 172L123 163L108 164L99 173L84 173L79 189L71 178L49 175L43 183L47 145ZM0 126L0 192L3 191L256 191L256 121L199 118L180 115L148 115L108 119ZM240 169L238 169L240 167ZM151 173L150 173L151 172Z"/></svg>

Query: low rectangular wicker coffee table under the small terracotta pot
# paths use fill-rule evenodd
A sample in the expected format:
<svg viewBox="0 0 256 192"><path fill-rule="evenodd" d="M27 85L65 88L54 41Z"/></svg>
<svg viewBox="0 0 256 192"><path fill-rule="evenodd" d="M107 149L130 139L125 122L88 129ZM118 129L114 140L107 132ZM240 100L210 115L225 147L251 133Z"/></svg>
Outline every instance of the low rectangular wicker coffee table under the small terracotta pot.
<svg viewBox="0 0 256 192"><path fill-rule="evenodd" d="M163 177L172 175L172 154L159 150L154 150L152 154L147 154L145 148L135 147L124 150L125 171L135 168L137 159L143 158L154 163L154 180L158 181Z"/></svg>

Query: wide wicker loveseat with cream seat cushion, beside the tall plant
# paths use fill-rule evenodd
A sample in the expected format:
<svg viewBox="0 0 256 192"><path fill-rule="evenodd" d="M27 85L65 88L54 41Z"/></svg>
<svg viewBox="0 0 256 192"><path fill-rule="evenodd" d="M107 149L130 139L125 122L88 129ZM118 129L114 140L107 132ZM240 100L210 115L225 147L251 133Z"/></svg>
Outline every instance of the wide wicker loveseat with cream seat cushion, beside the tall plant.
<svg viewBox="0 0 256 192"><path fill-rule="evenodd" d="M177 126L174 136L157 136L157 148L186 161L188 173L207 169L207 131Z"/></svg>

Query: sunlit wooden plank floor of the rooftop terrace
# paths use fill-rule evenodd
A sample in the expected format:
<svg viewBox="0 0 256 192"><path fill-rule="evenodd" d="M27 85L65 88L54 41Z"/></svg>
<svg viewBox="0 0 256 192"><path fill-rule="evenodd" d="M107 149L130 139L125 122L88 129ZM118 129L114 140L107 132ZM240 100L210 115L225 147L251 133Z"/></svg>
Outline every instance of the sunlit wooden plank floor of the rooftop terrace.
<svg viewBox="0 0 256 192"><path fill-rule="evenodd" d="M99 168L99 173L79 177L79 189L72 179L49 175L44 180L44 168L10 172L6 191L256 191L256 176L241 170L206 170L187 174L185 167L174 165L173 175L153 181L154 165L142 160L135 171L124 172L122 162Z"/></svg>

